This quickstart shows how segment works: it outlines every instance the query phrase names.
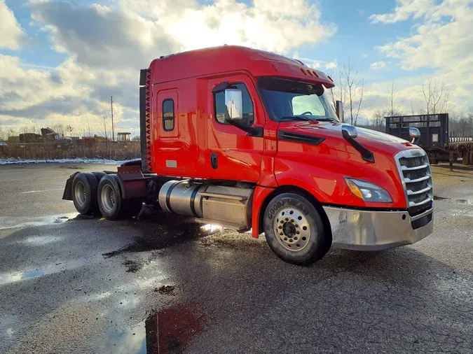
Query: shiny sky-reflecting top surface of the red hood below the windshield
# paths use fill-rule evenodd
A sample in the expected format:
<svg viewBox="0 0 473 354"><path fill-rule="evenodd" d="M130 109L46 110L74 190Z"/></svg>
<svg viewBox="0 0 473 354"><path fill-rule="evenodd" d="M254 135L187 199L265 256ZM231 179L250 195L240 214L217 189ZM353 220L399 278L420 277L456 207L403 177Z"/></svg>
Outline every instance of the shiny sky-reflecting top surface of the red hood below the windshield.
<svg viewBox="0 0 473 354"><path fill-rule="evenodd" d="M281 122L279 129L325 139L339 139L346 144L348 142L343 139L341 132L342 125L339 122ZM356 141L373 152L395 155L407 148L417 148L409 141L375 130L357 127L357 132Z"/></svg>

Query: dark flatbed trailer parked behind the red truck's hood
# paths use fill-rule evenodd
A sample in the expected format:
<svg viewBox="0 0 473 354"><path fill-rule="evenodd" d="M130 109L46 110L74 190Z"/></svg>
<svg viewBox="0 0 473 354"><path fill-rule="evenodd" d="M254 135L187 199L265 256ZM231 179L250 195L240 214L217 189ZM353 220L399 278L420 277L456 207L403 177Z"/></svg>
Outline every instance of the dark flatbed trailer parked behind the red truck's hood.
<svg viewBox="0 0 473 354"><path fill-rule="evenodd" d="M409 128L420 132L418 146L423 148L431 164L446 161L453 164L462 158L463 164L473 165L473 134L448 131L448 113L398 115L386 118L386 133L411 140Z"/></svg>

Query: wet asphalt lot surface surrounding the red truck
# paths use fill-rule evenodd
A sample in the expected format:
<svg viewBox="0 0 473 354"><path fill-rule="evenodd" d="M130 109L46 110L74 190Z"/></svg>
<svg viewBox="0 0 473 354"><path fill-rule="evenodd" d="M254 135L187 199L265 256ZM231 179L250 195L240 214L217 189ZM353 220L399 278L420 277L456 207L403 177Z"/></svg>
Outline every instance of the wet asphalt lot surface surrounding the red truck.
<svg viewBox="0 0 473 354"><path fill-rule="evenodd" d="M473 353L473 168L432 167L434 234L310 267L144 208L78 216L100 164L0 166L0 353Z"/></svg>

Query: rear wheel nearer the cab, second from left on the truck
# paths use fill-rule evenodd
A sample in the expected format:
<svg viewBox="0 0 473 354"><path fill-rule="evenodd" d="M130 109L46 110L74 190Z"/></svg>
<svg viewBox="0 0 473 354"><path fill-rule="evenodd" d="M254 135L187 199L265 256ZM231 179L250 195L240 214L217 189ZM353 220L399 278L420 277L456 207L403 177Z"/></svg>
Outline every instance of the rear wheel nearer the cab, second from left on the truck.
<svg viewBox="0 0 473 354"><path fill-rule="evenodd" d="M97 199L100 212L107 220L122 219L128 212L128 204L121 197L120 185L114 175L102 177L97 188Z"/></svg>

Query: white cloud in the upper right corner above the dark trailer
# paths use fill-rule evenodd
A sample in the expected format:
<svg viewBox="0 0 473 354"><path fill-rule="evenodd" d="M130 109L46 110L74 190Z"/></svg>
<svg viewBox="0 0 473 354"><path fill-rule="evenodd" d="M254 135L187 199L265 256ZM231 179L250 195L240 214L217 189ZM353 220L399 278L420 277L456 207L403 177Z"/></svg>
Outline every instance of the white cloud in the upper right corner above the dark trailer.
<svg viewBox="0 0 473 354"><path fill-rule="evenodd" d="M398 1L392 13L373 15L378 22L397 22L413 17L411 36L378 47L386 57L399 59L404 70L421 68L435 72L424 79L436 78L451 85L451 101L458 108L472 105L473 90L473 0ZM417 85L420 76L416 76ZM452 85L453 84L453 85ZM411 87L418 92L419 87ZM467 94L466 94L467 93Z"/></svg>

